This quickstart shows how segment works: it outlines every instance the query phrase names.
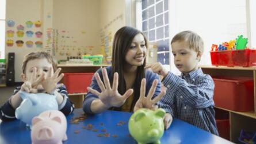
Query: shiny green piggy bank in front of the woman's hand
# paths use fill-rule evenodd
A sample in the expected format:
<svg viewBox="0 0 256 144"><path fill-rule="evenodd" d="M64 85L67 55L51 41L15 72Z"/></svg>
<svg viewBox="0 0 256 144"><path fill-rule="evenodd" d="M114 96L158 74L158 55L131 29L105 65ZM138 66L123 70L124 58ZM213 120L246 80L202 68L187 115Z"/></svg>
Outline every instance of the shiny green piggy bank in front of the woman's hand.
<svg viewBox="0 0 256 144"><path fill-rule="evenodd" d="M139 144L161 143L165 126L165 110L139 109L129 119L129 132Z"/></svg>

